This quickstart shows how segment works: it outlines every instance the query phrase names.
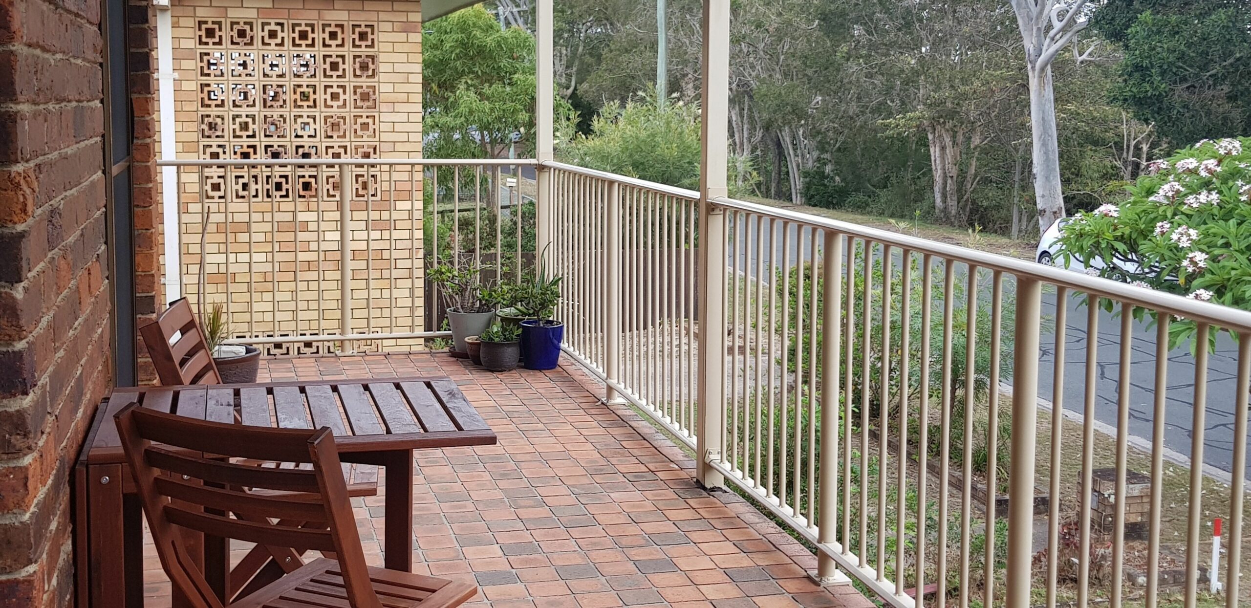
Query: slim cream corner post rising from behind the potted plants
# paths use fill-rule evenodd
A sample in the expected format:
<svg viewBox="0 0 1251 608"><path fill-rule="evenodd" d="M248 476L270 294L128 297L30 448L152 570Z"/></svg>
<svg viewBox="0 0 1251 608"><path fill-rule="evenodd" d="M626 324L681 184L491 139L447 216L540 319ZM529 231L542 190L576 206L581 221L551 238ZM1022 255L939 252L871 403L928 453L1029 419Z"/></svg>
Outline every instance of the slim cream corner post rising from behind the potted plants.
<svg viewBox="0 0 1251 608"><path fill-rule="evenodd" d="M555 160L554 154L554 129L553 129L553 101L555 86L553 83L554 58L552 55L552 3L553 0L537 0L534 6L534 156L539 161L535 171L535 228L534 249L535 265L542 264L544 270L552 271L553 265L548 259L548 246L552 244L552 169L547 163ZM520 173L520 171L518 171Z"/></svg>

